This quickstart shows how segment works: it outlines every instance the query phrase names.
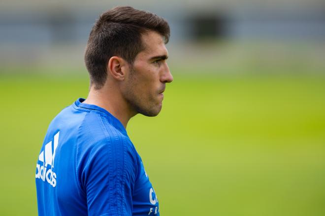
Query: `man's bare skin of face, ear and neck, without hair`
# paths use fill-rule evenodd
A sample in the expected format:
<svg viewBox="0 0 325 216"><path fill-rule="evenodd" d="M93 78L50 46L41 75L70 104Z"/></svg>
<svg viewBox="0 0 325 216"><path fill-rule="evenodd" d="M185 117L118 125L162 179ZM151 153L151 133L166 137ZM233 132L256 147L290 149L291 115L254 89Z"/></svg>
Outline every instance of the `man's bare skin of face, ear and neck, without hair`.
<svg viewBox="0 0 325 216"><path fill-rule="evenodd" d="M98 90L91 86L83 102L106 109L125 128L137 113L158 115L165 84L173 81L162 36L149 31L142 35L142 41L145 49L136 55L132 65L119 56L109 59L105 84Z"/></svg>

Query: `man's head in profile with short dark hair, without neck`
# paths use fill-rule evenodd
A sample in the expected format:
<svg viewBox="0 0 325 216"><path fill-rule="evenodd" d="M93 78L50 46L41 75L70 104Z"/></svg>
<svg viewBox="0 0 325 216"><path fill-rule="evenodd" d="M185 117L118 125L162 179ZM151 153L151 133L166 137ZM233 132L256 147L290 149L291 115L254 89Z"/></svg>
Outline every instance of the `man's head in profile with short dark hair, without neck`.
<svg viewBox="0 0 325 216"><path fill-rule="evenodd" d="M165 83L173 80L166 63L169 32L168 23L150 12L116 7L103 13L85 52L91 88L109 82L130 112L156 116Z"/></svg>

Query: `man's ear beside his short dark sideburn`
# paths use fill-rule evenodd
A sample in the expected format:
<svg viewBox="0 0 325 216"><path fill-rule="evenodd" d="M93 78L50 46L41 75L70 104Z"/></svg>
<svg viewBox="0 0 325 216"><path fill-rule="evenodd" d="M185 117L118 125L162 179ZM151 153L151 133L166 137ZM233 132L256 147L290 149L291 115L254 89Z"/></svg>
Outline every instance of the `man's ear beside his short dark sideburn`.
<svg viewBox="0 0 325 216"><path fill-rule="evenodd" d="M112 56L107 64L107 73L114 79L123 81L126 77L126 60L118 56Z"/></svg>

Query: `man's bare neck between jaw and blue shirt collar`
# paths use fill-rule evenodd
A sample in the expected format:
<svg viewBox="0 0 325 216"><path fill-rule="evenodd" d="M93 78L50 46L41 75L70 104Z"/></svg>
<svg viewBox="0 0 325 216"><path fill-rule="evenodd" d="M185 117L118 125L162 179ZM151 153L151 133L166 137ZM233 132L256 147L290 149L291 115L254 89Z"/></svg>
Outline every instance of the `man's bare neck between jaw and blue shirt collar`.
<svg viewBox="0 0 325 216"><path fill-rule="evenodd" d="M117 91L117 88L114 87L103 86L99 90L91 87L88 97L83 103L106 109L120 120L125 129L127 128L130 118L136 115L134 111L130 110L128 103Z"/></svg>

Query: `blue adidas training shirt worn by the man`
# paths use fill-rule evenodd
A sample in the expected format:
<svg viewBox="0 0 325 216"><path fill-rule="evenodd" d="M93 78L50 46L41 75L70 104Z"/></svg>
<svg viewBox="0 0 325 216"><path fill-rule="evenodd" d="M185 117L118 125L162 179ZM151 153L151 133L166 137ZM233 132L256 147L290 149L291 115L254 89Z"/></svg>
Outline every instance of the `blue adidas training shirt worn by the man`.
<svg viewBox="0 0 325 216"><path fill-rule="evenodd" d="M121 122L78 99L51 122L36 164L39 216L159 216Z"/></svg>

